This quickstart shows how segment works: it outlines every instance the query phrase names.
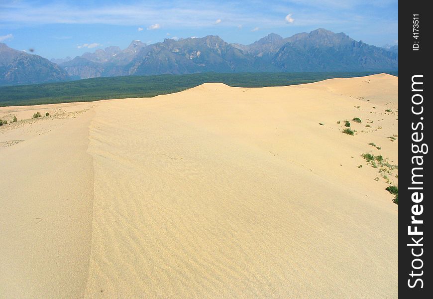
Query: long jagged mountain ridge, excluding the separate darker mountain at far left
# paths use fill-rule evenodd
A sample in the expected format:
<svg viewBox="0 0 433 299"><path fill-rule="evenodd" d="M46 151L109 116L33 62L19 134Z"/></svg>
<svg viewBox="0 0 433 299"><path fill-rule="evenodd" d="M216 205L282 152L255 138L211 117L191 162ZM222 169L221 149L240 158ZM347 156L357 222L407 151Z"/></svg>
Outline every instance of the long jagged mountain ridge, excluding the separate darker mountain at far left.
<svg viewBox="0 0 433 299"><path fill-rule="evenodd" d="M129 46L128 48L130 48ZM117 52L120 49L117 48ZM105 50L92 55L108 57ZM252 44L229 44L219 36L144 45L139 51L123 57L111 55L106 61L81 57L100 65L94 74L88 68L72 71L75 62L60 64L71 76L189 74L197 72L321 72L321 71L382 71L398 69L398 48L384 49L355 41L344 33L317 29L283 38L271 33ZM94 57L92 56L92 57ZM82 68L77 59L75 70ZM100 71L101 66L103 71Z"/></svg>

